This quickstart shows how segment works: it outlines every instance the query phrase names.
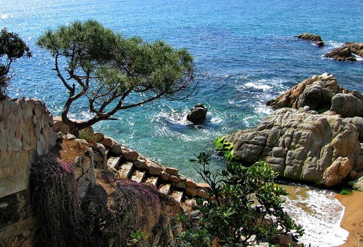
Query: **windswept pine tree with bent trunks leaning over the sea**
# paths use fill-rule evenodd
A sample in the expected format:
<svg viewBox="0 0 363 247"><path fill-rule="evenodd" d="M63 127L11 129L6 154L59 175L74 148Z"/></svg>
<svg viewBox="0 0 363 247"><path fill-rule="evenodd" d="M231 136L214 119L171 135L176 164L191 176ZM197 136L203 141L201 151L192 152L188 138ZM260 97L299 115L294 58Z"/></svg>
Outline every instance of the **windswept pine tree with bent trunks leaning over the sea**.
<svg viewBox="0 0 363 247"><path fill-rule="evenodd" d="M186 49L174 49L164 41L126 38L94 20L48 30L37 44L52 54L53 70L68 90L62 121L74 132L156 99L185 99L198 84ZM65 68L60 68L64 61ZM81 97L87 98L94 115L76 123L67 115Z"/></svg>

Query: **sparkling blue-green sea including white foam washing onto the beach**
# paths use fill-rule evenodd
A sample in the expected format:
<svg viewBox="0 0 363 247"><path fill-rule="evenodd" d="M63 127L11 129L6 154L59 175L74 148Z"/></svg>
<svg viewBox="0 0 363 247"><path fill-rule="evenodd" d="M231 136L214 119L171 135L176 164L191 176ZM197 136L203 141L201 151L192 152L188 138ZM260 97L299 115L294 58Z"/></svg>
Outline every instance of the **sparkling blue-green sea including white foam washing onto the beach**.
<svg viewBox="0 0 363 247"><path fill-rule="evenodd" d="M94 19L126 37L188 49L205 74L198 94L120 111L116 121L94 129L196 180L201 178L189 161L194 154L210 152L211 169L223 168L214 139L256 126L272 113L265 106L268 99L305 78L334 74L339 85L363 91L361 57L357 62L324 57L345 42L363 41L362 0L0 0L0 6L0 27L18 33L32 52L30 59L13 64L9 96L41 99L54 116L60 115L67 92L52 70L51 54L35 44L46 30ZM303 32L321 35L325 46L293 37ZM186 114L198 102L208 113L195 125ZM91 116L85 102L71 109L73 118ZM333 191L299 185L289 192L286 210L304 224L303 242L344 243L347 232L339 225L344 207Z"/></svg>

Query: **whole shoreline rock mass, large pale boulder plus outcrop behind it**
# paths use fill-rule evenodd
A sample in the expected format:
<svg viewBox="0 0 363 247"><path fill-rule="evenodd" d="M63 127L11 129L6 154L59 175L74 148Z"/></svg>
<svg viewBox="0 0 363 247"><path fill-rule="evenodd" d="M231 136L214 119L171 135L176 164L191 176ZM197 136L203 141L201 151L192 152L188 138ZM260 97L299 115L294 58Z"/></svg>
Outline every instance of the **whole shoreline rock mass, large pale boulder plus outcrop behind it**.
<svg viewBox="0 0 363 247"><path fill-rule="evenodd" d="M337 84L333 75L314 75L266 104L275 109L251 129L216 140L227 160L265 160L281 178L325 187L363 181L361 149L363 96Z"/></svg>

